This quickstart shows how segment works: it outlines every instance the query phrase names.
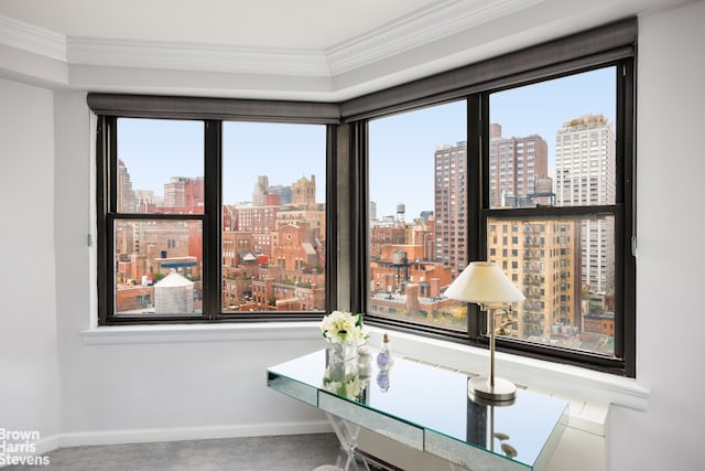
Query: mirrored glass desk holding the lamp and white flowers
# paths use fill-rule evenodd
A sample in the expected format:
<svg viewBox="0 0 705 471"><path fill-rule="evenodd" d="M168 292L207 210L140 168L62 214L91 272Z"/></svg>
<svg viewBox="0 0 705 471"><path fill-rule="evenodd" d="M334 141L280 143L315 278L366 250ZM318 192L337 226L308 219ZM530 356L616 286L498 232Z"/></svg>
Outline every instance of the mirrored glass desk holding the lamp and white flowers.
<svg viewBox="0 0 705 471"><path fill-rule="evenodd" d="M321 350L267 371L270 388L326 413L346 470L357 465L359 427L452 469L541 470L567 424L565 400L519 389L511 405L492 406L468 397L466 374L400 357L380 371L372 353L368 368L357 360L332 364Z"/></svg>

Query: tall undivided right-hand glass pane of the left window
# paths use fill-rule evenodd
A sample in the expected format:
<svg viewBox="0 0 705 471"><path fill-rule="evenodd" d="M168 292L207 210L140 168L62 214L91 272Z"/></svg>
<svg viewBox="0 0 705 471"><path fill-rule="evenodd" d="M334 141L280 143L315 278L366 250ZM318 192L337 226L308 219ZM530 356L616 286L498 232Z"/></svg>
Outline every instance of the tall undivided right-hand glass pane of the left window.
<svg viewBox="0 0 705 471"><path fill-rule="evenodd" d="M326 128L224 122L224 312L326 308Z"/></svg>

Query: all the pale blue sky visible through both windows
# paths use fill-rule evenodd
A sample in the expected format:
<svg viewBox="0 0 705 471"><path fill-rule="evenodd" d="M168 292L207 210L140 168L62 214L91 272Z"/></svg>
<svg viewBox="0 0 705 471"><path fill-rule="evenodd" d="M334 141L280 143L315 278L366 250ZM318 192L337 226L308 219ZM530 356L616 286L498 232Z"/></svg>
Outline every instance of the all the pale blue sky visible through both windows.
<svg viewBox="0 0 705 471"><path fill-rule="evenodd" d="M503 137L536 133L555 158L555 135L563 124L586 114L615 122L615 67L498 92L490 96L490 121ZM291 185L316 175L316 201L325 201L326 130L321 125L224 124L224 202L252 200L258 175L270 185ZM377 215L406 207L412 221L433 211L434 152L466 140L465 101L437 105L370 121L370 201ZM203 122L121 118L118 157L132 188L163 195L172 176L203 175Z"/></svg>

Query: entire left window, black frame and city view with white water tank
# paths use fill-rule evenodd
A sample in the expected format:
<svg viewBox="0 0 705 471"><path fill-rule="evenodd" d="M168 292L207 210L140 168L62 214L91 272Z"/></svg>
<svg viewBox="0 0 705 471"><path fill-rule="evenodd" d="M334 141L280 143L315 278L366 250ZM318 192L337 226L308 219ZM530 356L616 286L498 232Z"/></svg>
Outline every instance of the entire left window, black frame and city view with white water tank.
<svg viewBox="0 0 705 471"><path fill-rule="evenodd" d="M186 100L203 108L184 118ZM258 121L267 103L241 116L234 100L232 117L209 119L199 117L212 115L208 100L144 101L129 108L131 97L89 96L99 118L99 322L311 319L329 310L327 122L336 114L312 117L301 105L296 119Z"/></svg>

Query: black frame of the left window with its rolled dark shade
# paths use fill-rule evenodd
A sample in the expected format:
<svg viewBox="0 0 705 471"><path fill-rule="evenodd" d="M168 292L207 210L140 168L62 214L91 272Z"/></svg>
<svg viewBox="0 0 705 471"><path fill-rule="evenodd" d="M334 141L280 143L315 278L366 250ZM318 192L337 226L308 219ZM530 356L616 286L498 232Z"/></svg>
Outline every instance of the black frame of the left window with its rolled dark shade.
<svg viewBox="0 0 705 471"><path fill-rule="evenodd" d="M184 324L223 322L269 322L321 319L337 304L337 173L336 140L338 108L335 105L297 101L161 97L88 94L88 106L97 115L96 206L97 206L97 293L98 324ZM204 125L204 212L203 214L118 213L117 212L117 124L120 118L195 120ZM305 124L326 127L326 302L323 312L221 311L221 188L223 122ZM115 312L113 221L200 221L203 223L203 312L194 315L130 315ZM215 261L215 263L214 263Z"/></svg>

